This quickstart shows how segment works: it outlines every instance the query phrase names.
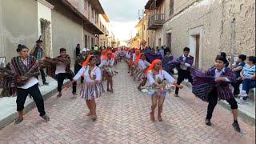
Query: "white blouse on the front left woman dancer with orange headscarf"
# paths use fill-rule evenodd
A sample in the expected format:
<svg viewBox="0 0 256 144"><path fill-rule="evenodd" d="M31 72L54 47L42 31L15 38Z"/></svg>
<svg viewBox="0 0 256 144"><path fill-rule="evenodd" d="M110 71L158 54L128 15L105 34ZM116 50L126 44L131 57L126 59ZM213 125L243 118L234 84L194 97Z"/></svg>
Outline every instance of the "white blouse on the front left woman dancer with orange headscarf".
<svg viewBox="0 0 256 144"><path fill-rule="evenodd" d="M84 82L94 82L93 79L90 78L89 72L88 72L88 66L83 66L79 71L78 74L74 76L74 81L78 81L79 78L82 77L82 74L84 74ZM91 70L91 74L94 74L96 76L95 81L101 81L102 80L102 74L101 70L98 68L98 66L95 66L93 70Z"/></svg>

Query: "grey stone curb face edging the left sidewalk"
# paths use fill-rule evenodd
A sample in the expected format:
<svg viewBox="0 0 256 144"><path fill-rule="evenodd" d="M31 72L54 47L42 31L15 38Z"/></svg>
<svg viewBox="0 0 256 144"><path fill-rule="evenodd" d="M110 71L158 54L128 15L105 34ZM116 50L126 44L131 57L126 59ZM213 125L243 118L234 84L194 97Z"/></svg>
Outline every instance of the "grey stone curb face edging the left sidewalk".
<svg viewBox="0 0 256 144"><path fill-rule="evenodd" d="M68 82L64 82L63 87L66 86L68 84ZM47 94L42 95L42 98L44 99L44 101L46 101L48 98L50 98L53 94L57 93L57 87L54 90L51 90L50 92L48 92ZM30 102L28 105L24 106L24 114L26 114L27 112L29 112L30 110L33 110L34 107L36 107L34 101ZM8 117L3 118L0 121L0 130L2 128L4 128L5 126L10 125L11 123L14 122L14 120L17 118L18 116L18 112L14 111L12 114L10 114Z"/></svg>

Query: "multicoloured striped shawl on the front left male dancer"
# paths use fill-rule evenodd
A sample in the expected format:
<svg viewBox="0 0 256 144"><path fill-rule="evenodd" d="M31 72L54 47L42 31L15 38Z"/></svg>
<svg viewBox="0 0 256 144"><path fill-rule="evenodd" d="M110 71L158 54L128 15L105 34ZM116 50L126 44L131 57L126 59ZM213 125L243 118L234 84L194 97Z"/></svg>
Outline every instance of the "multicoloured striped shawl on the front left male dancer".
<svg viewBox="0 0 256 144"><path fill-rule="evenodd" d="M9 97L16 94L17 86L23 86L31 77L38 77L39 64L34 56L27 58L28 65L25 66L21 57L14 57L5 68L0 68L0 88L2 93L0 97ZM20 79L25 76L27 79Z"/></svg>

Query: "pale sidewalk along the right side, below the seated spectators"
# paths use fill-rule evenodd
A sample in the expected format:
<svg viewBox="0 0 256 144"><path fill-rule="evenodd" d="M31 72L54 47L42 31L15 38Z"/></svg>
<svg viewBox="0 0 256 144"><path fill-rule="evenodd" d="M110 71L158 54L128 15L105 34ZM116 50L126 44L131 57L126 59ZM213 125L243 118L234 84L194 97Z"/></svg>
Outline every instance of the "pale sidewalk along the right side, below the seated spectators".
<svg viewBox="0 0 256 144"><path fill-rule="evenodd" d="M174 78L178 78L178 71L174 70ZM182 82L183 85L188 87L190 90L192 90L192 87L190 85L190 82L188 80L184 80ZM237 102L239 102L239 98L236 98ZM246 104L239 104L238 103L238 117L242 118L244 122L249 123L252 126L255 126L255 101L254 97L250 96L248 99L248 103ZM224 107L226 110L230 110L230 105L226 101L219 101L218 105Z"/></svg>

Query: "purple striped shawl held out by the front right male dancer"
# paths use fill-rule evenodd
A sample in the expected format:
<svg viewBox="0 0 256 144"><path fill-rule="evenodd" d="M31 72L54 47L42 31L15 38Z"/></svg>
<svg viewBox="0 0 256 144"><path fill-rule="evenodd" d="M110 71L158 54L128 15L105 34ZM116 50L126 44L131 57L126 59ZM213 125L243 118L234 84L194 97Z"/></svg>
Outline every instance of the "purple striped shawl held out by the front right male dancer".
<svg viewBox="0 0 256 144"><path fill-rule="evenodd" d="M206 73L202 73L201 71L195 69L191 70L191 75L193 78L192 92L198 98L201 98L202 101L208 102L208 96L214 87L216 87L218 90L218 99L229 100L230 98L234 97L229 87L230 82L236 81L234 72L232 72L230 68L226 67L221 76L228 78L230 82L215 82L215 70L216 68L213 68L207 70Z"/></svg>

